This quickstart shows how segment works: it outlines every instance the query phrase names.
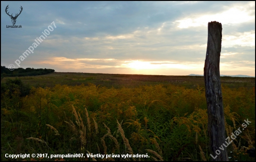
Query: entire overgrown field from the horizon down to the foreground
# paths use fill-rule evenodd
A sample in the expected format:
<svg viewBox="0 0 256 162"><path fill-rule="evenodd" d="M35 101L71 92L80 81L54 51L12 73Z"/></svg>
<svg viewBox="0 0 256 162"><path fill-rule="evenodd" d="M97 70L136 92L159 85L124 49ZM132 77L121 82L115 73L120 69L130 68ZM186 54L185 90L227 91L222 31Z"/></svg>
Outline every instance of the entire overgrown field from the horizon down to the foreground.
<svg viewBox="0 0 256 162"><path fill-rule="evenodd" d="M17 160L211 158L203 77L54 72L10 79L1 80L2 161L12 160L5 154L28 153L85 157ZM221 82L226 136L245 119L251 122L229 144L229 160L254 161L245 151L255 148L255 78ZM89 153L109 157L88 158ZM127 154L150 157L121 157Z"/></svg>

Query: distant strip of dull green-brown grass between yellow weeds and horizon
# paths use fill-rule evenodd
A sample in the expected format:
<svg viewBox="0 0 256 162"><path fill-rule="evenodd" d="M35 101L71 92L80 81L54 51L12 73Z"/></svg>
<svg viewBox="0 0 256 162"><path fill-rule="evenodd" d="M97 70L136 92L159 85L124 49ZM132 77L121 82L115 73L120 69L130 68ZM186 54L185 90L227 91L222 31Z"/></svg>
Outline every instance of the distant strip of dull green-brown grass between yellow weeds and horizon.
<svg viewBox="0 0 256 162"><path fill-rule="evenodd" d="M7 77L13 79L14 77ZM7 78L1 80L5 82ZM163 75L129 75L129 74L100 74L100 73L74 73L53 72L41 76L18 77L24 84L41 87L54 87L55 84L81 85L88 83L108 88L129 87L134 88L141 85L173 84L186 88L196 88L197 84L204 87L204 79L200 76L163 76ZM229 88L255 87L255 78L221 77L223 86Z"/></svg>

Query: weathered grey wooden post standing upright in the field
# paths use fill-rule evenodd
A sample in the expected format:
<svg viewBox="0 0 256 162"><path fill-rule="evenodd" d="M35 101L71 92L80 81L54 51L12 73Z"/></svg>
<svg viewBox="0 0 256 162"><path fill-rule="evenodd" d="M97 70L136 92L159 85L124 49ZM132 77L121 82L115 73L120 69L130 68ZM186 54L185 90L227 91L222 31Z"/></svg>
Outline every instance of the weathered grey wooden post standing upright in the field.
<svg viewBox="0 0 256 162"><path fill-rule="evenodd" d="M225 120L220 80L220 55L222 45L222 24L208 23L208 41L203 69L205 97L208 111L208 133L210 153L213 161L228 161L225 143Z"/></svg>

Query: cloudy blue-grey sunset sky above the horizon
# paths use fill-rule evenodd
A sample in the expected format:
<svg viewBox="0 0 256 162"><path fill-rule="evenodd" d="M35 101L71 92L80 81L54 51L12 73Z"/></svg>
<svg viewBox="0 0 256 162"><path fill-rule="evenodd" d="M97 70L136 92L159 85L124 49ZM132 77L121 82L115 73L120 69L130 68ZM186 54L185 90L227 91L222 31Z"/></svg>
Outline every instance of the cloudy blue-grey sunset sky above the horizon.
<svg viewBox="0 0 256 162"><path fill-rule="evenodd" d="M203 74L210 21L222 23L220 73L255 76L255 1L1 1L1 65Z"/></svg>

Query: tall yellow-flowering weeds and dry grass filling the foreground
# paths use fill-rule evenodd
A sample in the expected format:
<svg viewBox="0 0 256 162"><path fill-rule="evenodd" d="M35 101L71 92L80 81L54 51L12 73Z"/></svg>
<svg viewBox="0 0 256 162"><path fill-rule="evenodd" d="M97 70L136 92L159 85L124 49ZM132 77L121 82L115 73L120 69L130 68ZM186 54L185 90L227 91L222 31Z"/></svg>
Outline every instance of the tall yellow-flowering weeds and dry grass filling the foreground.
<svg viewBox="0 0 256 162"><path fill-rule="evenodd" d="M241 118L242 116L247 117L253 114L250 110L252 108L252 110L254 110L255 107L250 105L255 103L253 100L254 98L250 98L251 95L247 95L248 92L243 88L239 91L228 88L224 88L224 90L223 97L226 97L226 105L230 106L230 111L225 111L225 116L229 123L226 124L226 130L228 136L230 136L234 128L238 128L239 125L237 124L241 123L241 120L237 119L236 116L229 116L227 113L231 114L231 112L237 112L237 110L240 109L238 109L236 105L243 105L244 113L239 115ZM236 96L239 98L239 101L233 100ZM247 98L249 98L249 100L247 100ZM8 111L8 113L6 111L2 111L2 117L5 118L5 121L2 120L4 122L1 122L2 128L8 128L8 130L5 129L6 133L3 135L6 135L6 138L3 139L9 140L9 131L16 129L14 127L15 124L11 122L14 121L15 123L17 121L18 125L18 122L20 121L20 123L22 122L22 127L24 127L25 124L26 127L21 129L20 124L19 127L17 127L18 129L20 128L20 131L17 132L22 131L25 137L27 137L27 134L32 133L34 133L32 134L33 136L38 137L27 138L32 139L33 141L25 140L26 144L29 144L29 148L26 150L29 151L35 148L37 150L34 152L40 149L44 149L46 152L49 151L49 149L42 144L47 141L47 144L50 148L54 149L55 153L87 153L87 150L92 152L94 155L97 153L106 155L111 155L113 153L117 155L120 154L120 152L121 154L130 155L136 155L137 153L145 155L148 153L151 155L150 157L152 157L151 160L156 161L171 159L171 157L175 157L175 155L178 155L176 157L177 160L184 160L189 156L191 157L190 160L193 158L193 160L205 160L205 157L207 159L209 158L209 156L206 155L206 153L209 152L207 151L209 148L207 144L207 112L203 109L205 108L205 105L201 104L206 103L204 102L205 95L203 89L201 91L197 89L185 89L184 87L177 87L173 85L168 85L166 87L163 85L157 85L141 86L140 88L134 89L122 88L119 90L114 88L107 89L103 87L96 87L95 85L81 85L74 87L57 85L54 89L33 89L33 93L31 95L22 99L22 102L25 104L22 105L24 108L22 107L20 111L23 109L26 110L24 111L24 114L29 112L25 114L26 119L27 117L31 117L33 119L31 121L34 123L29 123L24 120L25 117L23 116L16 118L16 113L11 114L11 111ZM10 104L13 101L14 100L5 100L7 103L6 110L10 110L9 108L14 105ZM246 104L248 101L251 102ZM39 124L40 118L38 116L38 105L40 104L40 108L42 108L43 112L42 119L47 119L42 120L42 122L40 121L41 127ZM131 107L134 107L134 109L130 109ZM195 107L196 109L194 110ZM29 111L31 108L33 108L34 111ZM135 111L138 111L138 113L135 113ZM187 115L184 115L184 112ZM89 117L93 119L90 121ZM117 125L115 119L117 120ZM64 120L68 125L63 124ZM123 124L118 121L124 121L122 123L129 122L128 124L132 126L128 128L126 126L124 127ZM253 119L252 121L255 122ZM25 124L23 125L23 123ZM232 124L234 125L234 128ZM252 132L255 128L252 126L253 125L249 125L247 128L249 130L248 133L245 130L246 134L243 132L243 135L237 138L239 143L235 143L234 140L234 143L232 143L233 147L231 146L228 148L229 151L232 151L232 149L236 150L236 146L238 146L237 151L234 151L236 154L233 153L234 155L240 154L239 156L241 156L243 154L242 149L240 148L243 148L244 143L248 148L251 147L251 145L255 145L255 137ZM28 130L32 130L33 132ZM37 130L37 132L34 132L34 130ZM56 137L54 134L60 136ZM110 139L106 138L107 136ZM13 139L15 139L15 136ZM7 140L4 142L7 143ZM18 149L15 150L16 141L14 140L14 142L10 143L10 146L6 144L6 146L11 149L7 147L3 148L9 152L16 151L17 153ZM195 146L193 144L188 145L187 148L182 147L185 146L188 141L190 143L196 143L198 146L200 145L199 149L201 158L199 156L195 156L195 154L199 153L199 149L197 148L197 153L196 151L194 152L193 150ZM247 143L249 143L249 146ZM23 144L22 147L26 147L26 145ZM181 147L182 149L180 149ZM162 148L162 150L160 148ZM184 148L186 149L185 151L183 151ZM7 151L5 151L5 153L8 153ZM177 154L179 151L181 154ZM242 156L244 157L246 155L243 154ZM199 157L199 159L195 159L195 157ZM75 158L75 160L81 159ZM113 159L96 158L96 160L106 161ZM148 158L132 159L130 157L129 159L115 158L115 160L144 161L148 160ZM232 160L236 159L232 158Z"/></svg>

